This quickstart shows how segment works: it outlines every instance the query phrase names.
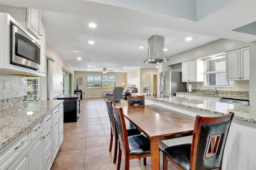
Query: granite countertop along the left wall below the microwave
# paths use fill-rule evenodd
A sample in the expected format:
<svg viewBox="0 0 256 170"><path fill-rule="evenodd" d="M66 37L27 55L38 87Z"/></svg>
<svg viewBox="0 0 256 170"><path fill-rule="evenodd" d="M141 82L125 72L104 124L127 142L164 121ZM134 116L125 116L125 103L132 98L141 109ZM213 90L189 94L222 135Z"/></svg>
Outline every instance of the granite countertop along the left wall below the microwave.
<svg viewBox="0 0 256 170"><path fill-rule="evenodd" d="M0 149L12 142L63 100L26 101L0 109ZM31 114L31 115L30 115Z"/></svg>

